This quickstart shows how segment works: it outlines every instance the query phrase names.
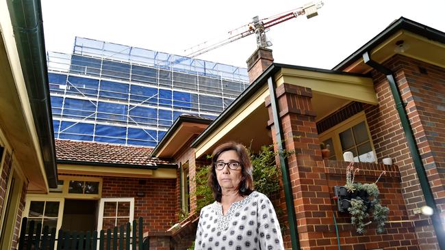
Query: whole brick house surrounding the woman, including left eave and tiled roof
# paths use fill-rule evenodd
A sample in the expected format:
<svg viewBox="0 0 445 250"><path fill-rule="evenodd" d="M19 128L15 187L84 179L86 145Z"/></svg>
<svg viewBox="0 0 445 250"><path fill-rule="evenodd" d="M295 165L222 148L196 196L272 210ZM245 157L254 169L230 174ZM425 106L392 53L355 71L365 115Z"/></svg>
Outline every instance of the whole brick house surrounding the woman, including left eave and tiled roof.
<svg viewBox="0 0 445 250"><path fill-rule="evenodd" d="M21 217L33 212L47 214L38 218L48 225L79 229L142 216L153 249L184 249L197 221L190 180L216 145L231 140L254 151L274 143L296 152L277 161L288 249L334 249L337 240L343 249L444 248L442 31L400 18L333 70L275 64L271 51L259 49L249 59L250 87L228 109L213 122L180 116L152 151L54 142L41 22L28 27L40 27L32 36L12 29L29 30L19 16L40 10L8 3L0 3L0 77L7 83L0 91L1 249L15 247ZM331 145L327 160L320 142ZM378 183L391 210L384 234L371 224L358 235L348 214L336 211L333 186L345 182L345 151L359 161L360 182L386 171ZM385 157L394 165L381 164ZM71 209L78 204L85 209ZM433 217L420 213L425 204L435 208ZM181 210L188 217L171 227Z"/></svg>

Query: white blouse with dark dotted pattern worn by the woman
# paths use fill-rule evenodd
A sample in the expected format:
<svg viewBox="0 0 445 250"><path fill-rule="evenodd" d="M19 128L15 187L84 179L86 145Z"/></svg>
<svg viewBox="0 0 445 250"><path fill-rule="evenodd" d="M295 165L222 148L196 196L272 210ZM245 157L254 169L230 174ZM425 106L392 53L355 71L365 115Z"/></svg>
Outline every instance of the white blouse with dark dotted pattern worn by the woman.
<svg viewBox="0 0 445 250"><path fill-rule="evenodd" d="M277 214L269 198L257 191L231 204L205 206L199 216L195 250L284 249Z"/></svg>

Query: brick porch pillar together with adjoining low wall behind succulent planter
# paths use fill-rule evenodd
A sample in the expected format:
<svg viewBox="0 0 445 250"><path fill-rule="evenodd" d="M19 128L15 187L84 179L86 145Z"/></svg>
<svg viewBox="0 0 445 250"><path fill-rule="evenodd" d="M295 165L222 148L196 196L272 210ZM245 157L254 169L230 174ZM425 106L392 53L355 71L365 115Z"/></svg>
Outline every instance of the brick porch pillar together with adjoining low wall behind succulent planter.
<svg viewBox="0 0 445 250"><path fill-rule="evenodd" d="M285 147L295 151L287 161L301 249L336 249L334 212L340 224L342 249L417 249L414 223L407 221L398 169L386 169L387 175L379 182L383 206L391 209L392 222L385 234L376 234L375 225L371 224L367 226L368 233L357 235L351 216L336 212L333 186L345 184L346 163L322 161L311 97L311 89L288 84L277 87ZM269 119L272 124L271 109ZM272 129L275 129L273 124ZM385 166L364 163L360 168L361 176L357 180L374 182Z"/></svg>

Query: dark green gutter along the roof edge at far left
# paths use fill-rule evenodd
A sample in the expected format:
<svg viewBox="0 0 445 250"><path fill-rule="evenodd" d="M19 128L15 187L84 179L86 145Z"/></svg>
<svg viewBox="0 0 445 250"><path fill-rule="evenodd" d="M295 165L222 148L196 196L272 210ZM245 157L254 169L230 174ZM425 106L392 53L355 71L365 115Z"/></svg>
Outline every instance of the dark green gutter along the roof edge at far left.
<svg viewBox="0 0 445 250"><path fill-rule="evenodd" d="M58 172L40 0L7 2L44 170L49 187L55 188L58 185Z"/></svg>

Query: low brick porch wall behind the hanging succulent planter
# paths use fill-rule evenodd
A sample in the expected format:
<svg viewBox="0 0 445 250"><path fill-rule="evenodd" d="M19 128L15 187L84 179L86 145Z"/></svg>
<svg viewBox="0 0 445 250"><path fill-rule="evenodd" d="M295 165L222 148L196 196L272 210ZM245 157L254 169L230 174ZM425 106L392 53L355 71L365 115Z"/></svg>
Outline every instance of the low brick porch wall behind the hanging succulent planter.
<svg viewBox="0 0 445 250"><path fill-rule="evenodd" d="M348 163L337 161L324 161L325 173L329 185L329 193L333 198L333 186L343 186L346 183L346 165ZM351 225L351 215L348 212L338 212L337 202L331 199L332 210L338 223L340 232L340 244L342 249L418 249L418 240L414 229L414 223L408 220L408 213L405 208L405 201L401 191L401 178L398 167L383 164L355 163L355 167L360 169L355 176L356 182L372 183L379 178L382 171L386 171L377 186L381 193L382 206L390 208L389 223L386 224L386 232L376 233L375 223L366 226L366 234L359 235L355 232L355 227ZM332 216L332 214L327 214ZM369 219L372 219L370 217ZM320 225L318 232L323 232L324 227L332 225ZM326 239L329 234L323 233ZM331 236L335 236L331 234ZM332 242L337 242L336 238L331 238Z"/></svg>

